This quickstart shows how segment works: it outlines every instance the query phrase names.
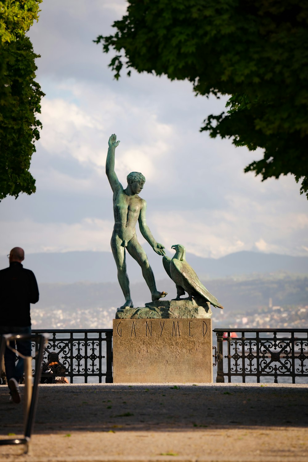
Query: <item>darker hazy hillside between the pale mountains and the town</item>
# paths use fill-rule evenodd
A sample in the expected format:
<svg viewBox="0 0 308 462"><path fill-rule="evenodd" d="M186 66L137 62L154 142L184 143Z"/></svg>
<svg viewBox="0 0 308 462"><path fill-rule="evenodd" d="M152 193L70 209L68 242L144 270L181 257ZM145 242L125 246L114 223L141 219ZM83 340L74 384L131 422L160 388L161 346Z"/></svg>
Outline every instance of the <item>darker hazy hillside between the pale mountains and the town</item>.
<svg viewBox="0 0 308 462"><path fill-rule="evenodd" d="M254 311L268 306L269 298L274 305L308 304L308 277L272 276L251 280L218 279L205 281L206 288L223 304L226 311ZM157 287L168 292L168 299L176 297L175 284L171 280L157 282ZM134 306L144 306L151 301L145 282L132 284ZM123 294L118 283L41 284L42 309L65 307L92 309L109 308L123 304Z"/></svg>

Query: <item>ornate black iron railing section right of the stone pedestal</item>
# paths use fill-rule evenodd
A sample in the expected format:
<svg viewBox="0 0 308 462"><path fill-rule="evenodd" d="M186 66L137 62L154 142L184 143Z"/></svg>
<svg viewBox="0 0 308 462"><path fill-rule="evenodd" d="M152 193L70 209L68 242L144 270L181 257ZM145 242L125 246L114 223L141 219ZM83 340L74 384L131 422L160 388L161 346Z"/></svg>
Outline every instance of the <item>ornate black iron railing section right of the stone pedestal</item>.
<svg viewBox="0 0 308 462"><path fill-rule="evenodd" d="M224 382L224 377L231 382L236 376L245 382L246 377L255 376L258 383L260 377L273 377L274 383L278 383L278 377L291 377L292 383L296 383L296 377L306 377L308 383L308 329L214 329L213 332L217 335L217 347L213 346L216 382ZM238 337L231 337L231 332L238 333ZM223 370L224 358L227 371Z"/></svg>

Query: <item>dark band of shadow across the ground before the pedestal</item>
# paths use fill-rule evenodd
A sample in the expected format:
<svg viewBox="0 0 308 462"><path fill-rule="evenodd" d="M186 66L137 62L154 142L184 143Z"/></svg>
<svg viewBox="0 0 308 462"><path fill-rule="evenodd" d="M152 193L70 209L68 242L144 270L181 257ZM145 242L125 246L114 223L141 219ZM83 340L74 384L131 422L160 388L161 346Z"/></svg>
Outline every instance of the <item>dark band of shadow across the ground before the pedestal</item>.
<svg viewBox="0 0 308 462"><path fill-rule="evenodd" d="M5 386L0 402L0 435L21 433L23 407L8 403ZM306 387L43 385L34 434L307 425Z"/></svg>

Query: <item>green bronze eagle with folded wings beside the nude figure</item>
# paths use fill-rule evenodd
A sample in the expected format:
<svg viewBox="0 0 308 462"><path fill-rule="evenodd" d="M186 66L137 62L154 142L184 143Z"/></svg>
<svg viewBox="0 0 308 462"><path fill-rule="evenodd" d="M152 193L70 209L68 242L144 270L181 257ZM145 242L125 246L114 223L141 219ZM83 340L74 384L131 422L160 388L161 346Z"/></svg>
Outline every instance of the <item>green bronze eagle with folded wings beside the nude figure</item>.
<svg viewBox="0 0 308 462"><path fill-rule="evenodd" d="M200 282L193 268L185 259L185 247L180 244L175 244L171 247L175 249L175 255L170 259L167 255L163 256L163 267L168 276L175 282L177 297L175 300L180 300L181 295L188 293L188 299L194 299L198 305L204 305L210 302L211 305L222 308L215 298Z"/></svg>

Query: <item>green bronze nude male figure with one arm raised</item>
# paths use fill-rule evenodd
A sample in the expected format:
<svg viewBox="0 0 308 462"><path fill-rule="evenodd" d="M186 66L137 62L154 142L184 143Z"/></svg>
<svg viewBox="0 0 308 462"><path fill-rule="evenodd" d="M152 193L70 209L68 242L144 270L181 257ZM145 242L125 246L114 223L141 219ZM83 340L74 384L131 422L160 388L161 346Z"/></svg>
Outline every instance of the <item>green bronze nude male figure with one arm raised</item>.
<svg viewBox="0 0 308 462"><path fill-rule="evenodd" d="M142 236L148 241L158 255L165 255L164 246L156 242L146 224L145 211L146 202L139 197L145 184L145 177L139 172L131 172L127 175L127 188L124 189L115 173L115 148L120 141L116 135L109 138L109 148L106 159L106 175L113 191L113 207L115 226L111 237L111 249L118 269L118 280L125 297L125 304L121 308L133 308L133 302L129 290L129 280L126 273L125 249L138 261L145 282L147 283L152 296L152 301L159 300L167 295L166 292L157 291L154 274L149 265L144 249L138 242L136 236L136 224Z"/></svg>

